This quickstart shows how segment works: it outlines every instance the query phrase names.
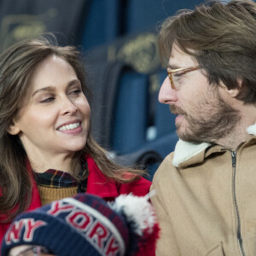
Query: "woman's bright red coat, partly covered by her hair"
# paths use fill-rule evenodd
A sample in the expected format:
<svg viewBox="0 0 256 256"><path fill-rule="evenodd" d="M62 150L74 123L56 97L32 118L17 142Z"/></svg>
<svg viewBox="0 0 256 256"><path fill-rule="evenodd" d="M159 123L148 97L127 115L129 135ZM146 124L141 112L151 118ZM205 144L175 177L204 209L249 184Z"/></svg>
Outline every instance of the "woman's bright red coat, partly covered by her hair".
<svg viewBox="0 0 256 256"><path fill-rule="evenodd" d="M101 196L102 198L111 201L120 194L133 195L146 195L149 192L151 182L141 177L136 182L127 184L117 184L110 182L107 177L102 174L96 162L88 155L85 156L88 163L88 181L87 181L87 193ZM29 166L29 169L31 167ZM32 170L29 170L32 172ZM40 195L38 192L38 186L34 179L32 179L32 201L26 211L32 211L38 207L41 207ZM3 219L3 218L2 218ZM10 224L10 223L9 223ZM0 247L5 231L9 228L9 224L0 224Z"/></svg>

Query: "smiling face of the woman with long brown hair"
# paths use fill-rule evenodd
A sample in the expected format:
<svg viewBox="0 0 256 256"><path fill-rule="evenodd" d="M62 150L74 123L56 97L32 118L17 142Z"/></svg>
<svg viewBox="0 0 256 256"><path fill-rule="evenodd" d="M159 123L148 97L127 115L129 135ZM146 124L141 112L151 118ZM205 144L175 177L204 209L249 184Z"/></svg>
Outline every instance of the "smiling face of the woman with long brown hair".
<svg viewBox="0 0 256 256"><path fill-rule="evenodd" d="M9 133L19 134L28 156L71 154L84 148L90 106L73 67L56 55L38 63Z"/></svg>

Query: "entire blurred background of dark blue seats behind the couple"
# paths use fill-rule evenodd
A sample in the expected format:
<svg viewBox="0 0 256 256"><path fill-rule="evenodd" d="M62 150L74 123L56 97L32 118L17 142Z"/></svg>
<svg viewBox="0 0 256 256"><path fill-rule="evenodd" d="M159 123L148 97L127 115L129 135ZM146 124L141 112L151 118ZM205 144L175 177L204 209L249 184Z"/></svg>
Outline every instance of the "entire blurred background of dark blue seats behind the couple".
<svg viewBox="0 0 256 256"><path fill-rule="evenodd" d="M54 32L61 45L84 55L93 94L96 141L122 164L139 164L152 177L177 143L174 116L158 102L166 71L157 29L178 9L201 0L1 0L0 50Z"/></svg>

